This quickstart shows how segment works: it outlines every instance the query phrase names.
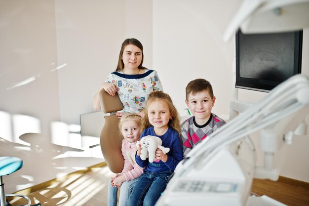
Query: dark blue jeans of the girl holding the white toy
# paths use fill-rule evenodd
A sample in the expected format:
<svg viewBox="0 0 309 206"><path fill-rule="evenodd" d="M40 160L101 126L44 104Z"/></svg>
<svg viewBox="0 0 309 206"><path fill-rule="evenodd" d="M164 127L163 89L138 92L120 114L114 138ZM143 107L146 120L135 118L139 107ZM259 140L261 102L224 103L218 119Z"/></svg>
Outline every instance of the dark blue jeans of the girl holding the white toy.
<svg viewBox="0 0 309 206"><path fill-rule="evenodd" d="M128 206L154 206L171 174L170 169L156 173L144 171L133 188Z"/></svg>

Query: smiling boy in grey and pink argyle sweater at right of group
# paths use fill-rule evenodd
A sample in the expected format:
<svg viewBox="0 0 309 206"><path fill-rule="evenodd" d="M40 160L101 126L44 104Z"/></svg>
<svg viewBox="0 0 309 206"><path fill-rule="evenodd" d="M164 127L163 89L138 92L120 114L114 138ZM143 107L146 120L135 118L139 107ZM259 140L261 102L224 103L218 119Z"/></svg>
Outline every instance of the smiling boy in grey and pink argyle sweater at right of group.
<svg viewBox="0 0 309 206"><path fill-rule="evenodd" d="M181 124L184 157L196 144L226 123L211 113L216 97L207 80L196 79L189 82L186 87L185 101L193 117Z"/></svg>

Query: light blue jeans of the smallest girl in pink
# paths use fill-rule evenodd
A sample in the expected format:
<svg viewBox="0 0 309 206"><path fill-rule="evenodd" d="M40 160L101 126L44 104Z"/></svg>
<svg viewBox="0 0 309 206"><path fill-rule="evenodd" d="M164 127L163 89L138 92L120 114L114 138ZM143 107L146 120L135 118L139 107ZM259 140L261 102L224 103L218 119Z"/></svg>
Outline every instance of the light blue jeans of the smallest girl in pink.
<svg viewBox="0 0 309 206"><path fill-rule="evenodd" d="M132 193L134 185L137 183L138 178L130 180L128 182L123 182L120 187L120 195L118 206L127 206L128 199ZM112 187L111 182L109 182L108 193L107 193L107 205L117 206L117 190L118 188Z"/></svg>

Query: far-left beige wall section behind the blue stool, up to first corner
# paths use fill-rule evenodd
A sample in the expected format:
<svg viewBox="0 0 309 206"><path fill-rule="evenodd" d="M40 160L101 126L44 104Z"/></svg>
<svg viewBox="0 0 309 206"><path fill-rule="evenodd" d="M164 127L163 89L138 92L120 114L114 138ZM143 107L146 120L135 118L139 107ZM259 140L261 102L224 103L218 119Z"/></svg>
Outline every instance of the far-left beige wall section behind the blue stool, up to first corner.
<svg viewBox="0 0 309 206"><path fill-rule="evenodd" d="M6 192L12 192L58 172L50 140L50 123L60 120L55 10L53 1L1 0L0 5L0 156L25 164L3 177Z"/></svg>

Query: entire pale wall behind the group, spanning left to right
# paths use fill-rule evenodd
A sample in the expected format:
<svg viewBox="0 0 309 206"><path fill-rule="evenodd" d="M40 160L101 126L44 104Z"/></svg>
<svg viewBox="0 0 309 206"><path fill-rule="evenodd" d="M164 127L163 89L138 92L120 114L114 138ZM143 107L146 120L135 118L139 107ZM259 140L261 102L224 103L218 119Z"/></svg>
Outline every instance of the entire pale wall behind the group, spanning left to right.
<svg viewBox="0 0 309 206"><path fill-rule="evenodd" d="M4 177L6 192L103 161L99 147L80 146L79 115L94 111L92 98L116 69L126 38L143 43L144 66L158 71L181 115L186 115L185 86L205 78L217 97L213 112L227 118L234 43L223 42L222 36L239 3L0 0L0 156L16 156L25 163ZM306 30L307 72L308 40ZM244 91L240 96L258 101L263 95ZM308 141L308 136L295 139L286 150L281 175L309 182L308 162L300 158L308 156Z"/></svg>

